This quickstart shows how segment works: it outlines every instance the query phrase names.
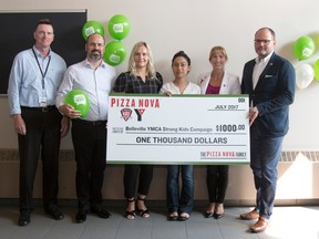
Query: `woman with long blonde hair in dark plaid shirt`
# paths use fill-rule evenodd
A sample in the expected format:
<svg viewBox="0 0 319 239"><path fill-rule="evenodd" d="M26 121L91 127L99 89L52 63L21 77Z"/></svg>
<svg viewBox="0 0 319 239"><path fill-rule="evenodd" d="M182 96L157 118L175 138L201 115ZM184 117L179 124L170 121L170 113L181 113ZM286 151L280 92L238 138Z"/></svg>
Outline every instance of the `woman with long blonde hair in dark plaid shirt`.
<svg viewBox="0 0 319 239"><path fill-rule="evenodd" d="M153 54L150 45L146 42L137 42L133 46L131 56L128 59L128 71L119 75L113 89L114 92L131 94L157 94L162 85L163 79L162 75L155 71ZM124 196L127 200L125 212L127 219L135 219L136 212L143 218L148 218L151 216L147 207L145 206L145 198L148 194L152 178L153 165L125 165L123 183Z"/></svg>

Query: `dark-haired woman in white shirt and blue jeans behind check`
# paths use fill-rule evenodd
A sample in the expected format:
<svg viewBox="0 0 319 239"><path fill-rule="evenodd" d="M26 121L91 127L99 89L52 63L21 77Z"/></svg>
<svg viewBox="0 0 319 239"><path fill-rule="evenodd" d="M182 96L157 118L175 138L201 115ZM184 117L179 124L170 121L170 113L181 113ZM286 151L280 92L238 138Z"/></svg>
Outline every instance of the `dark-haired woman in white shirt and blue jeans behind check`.
<svg viewBox="0 0 319 239"><path fill-rule="evenodd" d="M172 70L175 79L163 85L161 93L172 96L174 94L200 94L198 85L187 80L191 71L191 59L184 51L177 52L172 60ZM179 196L179 170L182 173L182 193ZM194 202L194 173L193 165L167 166L167 207L168 220L185 221L189 218Z"/></svg>

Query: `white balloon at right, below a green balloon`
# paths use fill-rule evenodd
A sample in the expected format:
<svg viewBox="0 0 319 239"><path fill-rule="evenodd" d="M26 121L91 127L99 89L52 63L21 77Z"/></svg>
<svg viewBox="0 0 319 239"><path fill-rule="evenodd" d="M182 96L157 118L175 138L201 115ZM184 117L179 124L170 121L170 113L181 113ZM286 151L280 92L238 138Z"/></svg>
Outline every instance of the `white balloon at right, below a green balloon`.
<svg viewBox="0 0 319 239"><path fill-rule="evenodd" d="M296 67L296 84L299 89L306 89L315 77L315 70L310 64L301 63Z"/></svg>

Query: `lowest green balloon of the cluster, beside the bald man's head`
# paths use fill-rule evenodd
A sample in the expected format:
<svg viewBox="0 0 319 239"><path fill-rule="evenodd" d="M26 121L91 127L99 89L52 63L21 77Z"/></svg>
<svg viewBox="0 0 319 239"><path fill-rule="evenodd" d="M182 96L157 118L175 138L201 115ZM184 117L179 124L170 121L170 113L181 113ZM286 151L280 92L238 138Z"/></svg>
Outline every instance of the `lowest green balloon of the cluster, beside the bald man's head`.
<svg viewBox="0 0 319 239"><path fill-rule="evenodd" d="M125 45L120 41L112 41L105 45L104 61L110 65L121 64L126 56Z"/></svg>

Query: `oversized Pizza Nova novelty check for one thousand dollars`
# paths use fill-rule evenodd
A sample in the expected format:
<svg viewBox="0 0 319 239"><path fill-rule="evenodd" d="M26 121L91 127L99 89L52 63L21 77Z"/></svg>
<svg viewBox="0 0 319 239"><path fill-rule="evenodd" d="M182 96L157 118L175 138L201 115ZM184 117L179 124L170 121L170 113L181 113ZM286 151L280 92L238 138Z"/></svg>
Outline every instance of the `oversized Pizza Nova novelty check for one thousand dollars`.
<svg viewBox="0 0 319 239"><path fill-rule="evenodd" d="M106 163L249 163L248 111L247 95L112 94Z"/></svg>

